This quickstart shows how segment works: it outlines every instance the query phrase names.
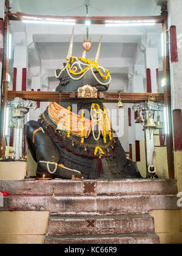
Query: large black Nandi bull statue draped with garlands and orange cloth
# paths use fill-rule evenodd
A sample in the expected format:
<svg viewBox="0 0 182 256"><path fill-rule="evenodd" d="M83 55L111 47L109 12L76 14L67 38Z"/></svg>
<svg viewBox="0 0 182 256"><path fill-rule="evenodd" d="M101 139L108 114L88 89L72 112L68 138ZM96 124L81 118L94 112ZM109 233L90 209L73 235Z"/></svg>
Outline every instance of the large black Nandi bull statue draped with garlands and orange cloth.
<svg viewBox="0 0 182 256"><path fill-rule="evenodd" d="M110 74L95 62L72 56L73 34L67 63L55 71L60 80L56 91L78 91L91 85L107 91ZM90 114L90 115L89 115ZM101 103L53 102L38 122L26 124L26 138L30 152L38 163L36 175L71 179L73 174L84 179L141 178L135 163L125 154L114 135L107 110Z"/></svg>

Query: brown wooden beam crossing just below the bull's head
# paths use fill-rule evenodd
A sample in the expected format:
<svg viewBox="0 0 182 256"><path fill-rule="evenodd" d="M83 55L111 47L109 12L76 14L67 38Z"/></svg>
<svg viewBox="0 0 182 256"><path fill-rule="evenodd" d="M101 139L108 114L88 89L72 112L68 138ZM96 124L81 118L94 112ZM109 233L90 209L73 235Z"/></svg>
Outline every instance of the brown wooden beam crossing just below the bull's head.
<svg viewBox="0 0 182 256"><path fill-rule="evenodd" d="M136 103L147 101L150 93L121 93L123 103ZM8 91L8 99L23 98L41 102L59 102L59 92L50 91ZM73 91L61 92L61 102L110 102L117 103L119 98L118 93L99 92L97 99L81 99L78 98L78 93ZM155 101L163 102L164 95L159 94Z"/></svg>

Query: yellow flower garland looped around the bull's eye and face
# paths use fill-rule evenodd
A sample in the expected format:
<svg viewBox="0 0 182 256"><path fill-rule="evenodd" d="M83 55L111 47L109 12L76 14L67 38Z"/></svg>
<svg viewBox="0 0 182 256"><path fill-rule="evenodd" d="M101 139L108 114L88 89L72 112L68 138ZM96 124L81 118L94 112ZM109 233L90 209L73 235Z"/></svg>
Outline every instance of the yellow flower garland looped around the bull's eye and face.
<svg viewBox="0 0 182 256"><path fill-rule="evenodd" d="M73 56L73 57L72 57L72 63L73 63L74 59L75 59L75 57ZM107 80L107 78L110 76L110 72L109 72L109 70L107 70L106 68L105 68L105 70L107 71L107 76L104 76L104 74L101 72L101 70L100 70L100 68L99 68L97 62L93 62L92 60L86 60L86 59L81 58L81 57L78 57L78 59L81 60L82 62L85 62L86 64L89 64L90 66L87 66L87 68L84 68L84 69L81 70L80 72L76 73L76 72L74 72L74 71L72 70L72 68L71 68L71 65L70 65L71 59L70 59L70 60L68 61L68 63L67 63L67 66L68 66L69 72L70 72L71 74L73 74L73 75L75 75L75 76L79 76L80 74L85 73L88 69L94 67L94 68L96 68L96 70L98 71L98 73L100 74L100 76L101 76L103 79L106 79L106 80Z"/></svg>

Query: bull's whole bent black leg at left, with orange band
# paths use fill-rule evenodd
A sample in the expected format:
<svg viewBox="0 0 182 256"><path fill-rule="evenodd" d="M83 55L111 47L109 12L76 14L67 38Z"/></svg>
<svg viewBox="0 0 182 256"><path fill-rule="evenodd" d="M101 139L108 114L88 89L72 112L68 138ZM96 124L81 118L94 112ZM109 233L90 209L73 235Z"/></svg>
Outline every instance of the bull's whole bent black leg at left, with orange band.
<svg viewBox="0 0 182 256"><path fill-rule="evenodd" d="M45 174L50 178L70 179L73 171L56 165L61 163L58 147L44 130L38 130L40 126L36 121L29 121L26 124L27 143L35 162L38 163L36 176L41 177L42 174ZM83 176L79 173L75 173L75 175Z"/></svg>

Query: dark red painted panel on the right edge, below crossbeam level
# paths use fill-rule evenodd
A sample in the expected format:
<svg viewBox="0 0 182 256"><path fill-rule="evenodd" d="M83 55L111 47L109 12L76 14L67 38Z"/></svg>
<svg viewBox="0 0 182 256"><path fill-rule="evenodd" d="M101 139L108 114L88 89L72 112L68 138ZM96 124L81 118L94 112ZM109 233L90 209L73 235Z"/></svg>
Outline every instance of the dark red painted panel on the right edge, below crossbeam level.
<svg viewBox="0 0 182 256"><path fill-rule="evenodd" d="M182 151L182 116L181 109L173 110L174 126L174 148L175 151Z"/></svg>

